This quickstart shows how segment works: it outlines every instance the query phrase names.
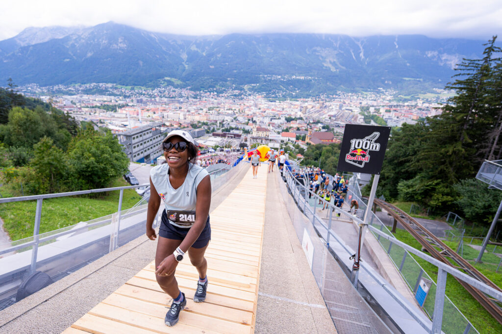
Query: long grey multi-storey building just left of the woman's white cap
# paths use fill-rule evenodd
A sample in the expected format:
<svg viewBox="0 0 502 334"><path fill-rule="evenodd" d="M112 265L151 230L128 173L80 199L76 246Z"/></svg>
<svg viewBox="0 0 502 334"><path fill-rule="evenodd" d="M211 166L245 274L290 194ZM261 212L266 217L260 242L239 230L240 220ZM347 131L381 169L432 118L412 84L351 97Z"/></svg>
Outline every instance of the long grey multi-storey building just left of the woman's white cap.
<svg viewBox="0 0 502 334"><path fill-rule="evenodd" d="M167 135L163 122L130 129L118 133L118 141L123 146L130 161L152 163L162 155L161 142Z"/></svg>

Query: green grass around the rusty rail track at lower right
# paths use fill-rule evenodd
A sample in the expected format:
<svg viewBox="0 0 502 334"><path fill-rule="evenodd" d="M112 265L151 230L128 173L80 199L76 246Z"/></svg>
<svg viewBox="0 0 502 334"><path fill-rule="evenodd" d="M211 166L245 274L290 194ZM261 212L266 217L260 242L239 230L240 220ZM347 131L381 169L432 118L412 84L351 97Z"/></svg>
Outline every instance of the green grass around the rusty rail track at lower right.
<svg viewBox="0 0 502 334"><path fill-rule="evenodd" d="M415 240L415 238L410 235L405 230L397 229L396 238L409 244L412 247L417 249L421 249L420 243ZM452 246L455 243L452 244ZM399 248L399 247L395 247ZM472 257L473 253L470 251L466 251L466 246L464 246L464 256ZM469 247L472 249L471 247ZM454 248L456 249L456 248ZM474 250L474 249L472 249ZM475 250L474 250L475 252ZM391 252L392 253L392 252ZM484 256L488 254L483 255ZM489 254L492 255L492 254ZM429 274L434 282L437 282L437 267L418 256L412 255L417 262L424 268L424 270ZM476 254L477 256L477 254ZM493 255L494 256L494 255ZM496 257L496 256L495 256ZM487 257L488 259L492 259L491 256ZM497 262L498 263L498 262ZM397 262L398 266L401 262ZM502 286L502 278L500 277L500 273L495 273L494 269L491 271L491 267L488 264L479 264L475 265L475 267L481 271L484 275L490 278L495 284L498 286ZM496 266L495 266L496 268ZM403 269L405 271L405 269ZM485 273L486 272L486 273ZM406 273L405 273L406 275ZM498 277L497 277L498 276ZM416 276L415 276L416 277ZM415 278L416 279L416 278ZM451 275L448 274L448 278L446 280L446 295L451 299L451 301L458 307L458 309L471 321L471 323L476 327L476 329L480 333L500 333L502 332L502 325L499 324L480 304L477 302L469 292L467 292L462 285ZM434 310L434 297L435 297L435 288L431 289L429 292L424 308L428 310L429 314L432 314ZM446 305L445 305L446 307ZM449 309L452 306L448 307ZM446 310L446 308L445 308ZM448 318L446 314L443 316L443 330L449 328L455 328L456 323L460 322L458 318ZM458 328L456 329L458 330ZM445 332L452 332L450 330L445 330ZM453 331L454 332L454 331ZM461 332L461 331L460 331Z"/></svg>

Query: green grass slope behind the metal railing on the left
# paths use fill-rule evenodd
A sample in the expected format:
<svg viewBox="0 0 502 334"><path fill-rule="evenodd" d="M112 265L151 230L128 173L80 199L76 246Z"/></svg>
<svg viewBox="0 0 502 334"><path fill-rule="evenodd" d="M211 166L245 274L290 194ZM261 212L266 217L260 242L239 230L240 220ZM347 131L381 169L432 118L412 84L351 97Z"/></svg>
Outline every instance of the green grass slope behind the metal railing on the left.
<svg viewBox="0 0 502 334"><path fill-rule="evenodd" d="M115 180L111 187L129 185L122 178ZM4 188L4 187L2 187ZM2 194L5 196L6 189ZM17 195L19 196L19 195ZM69 196L44 199L40 233L74 225L80 221L102 217L118 209L119 191L100 193L100 197ZM122 210L135 205L141 196L134 189L126 189L122 198ZM23 201L0 204L0 217L4 220L4 229L11 240L19 240L33 235L37 201Z"/></svg>

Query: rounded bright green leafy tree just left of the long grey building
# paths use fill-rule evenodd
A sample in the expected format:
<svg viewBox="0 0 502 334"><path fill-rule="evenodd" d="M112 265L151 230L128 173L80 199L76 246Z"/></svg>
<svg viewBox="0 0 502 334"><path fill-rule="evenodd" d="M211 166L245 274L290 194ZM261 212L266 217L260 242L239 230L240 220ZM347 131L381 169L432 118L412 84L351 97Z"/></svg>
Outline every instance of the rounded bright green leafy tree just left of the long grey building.
<svg viewBox="0 0 502 334"><path fill-rule="evenodd" d="M92 128L81 131L68 146L73 189L107 187L129 167L129 159L111 132L102 135Z"/></svg>

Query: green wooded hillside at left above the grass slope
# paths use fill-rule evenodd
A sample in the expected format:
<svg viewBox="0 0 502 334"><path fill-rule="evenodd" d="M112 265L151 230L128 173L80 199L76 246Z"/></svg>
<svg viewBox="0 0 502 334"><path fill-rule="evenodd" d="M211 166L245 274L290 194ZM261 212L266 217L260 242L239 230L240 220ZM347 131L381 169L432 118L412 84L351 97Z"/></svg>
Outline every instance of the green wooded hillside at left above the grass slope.
<svg viewBox="0 0 502 334"><path fill-rule="evenodd" d="M0 183L15 195L107 187L129 160L118 140L40 100L0 88ZM6 193L4 192L4 195Z"/></svg>

